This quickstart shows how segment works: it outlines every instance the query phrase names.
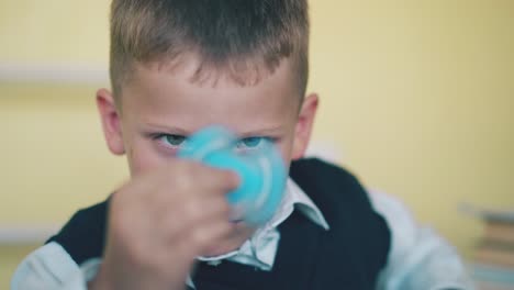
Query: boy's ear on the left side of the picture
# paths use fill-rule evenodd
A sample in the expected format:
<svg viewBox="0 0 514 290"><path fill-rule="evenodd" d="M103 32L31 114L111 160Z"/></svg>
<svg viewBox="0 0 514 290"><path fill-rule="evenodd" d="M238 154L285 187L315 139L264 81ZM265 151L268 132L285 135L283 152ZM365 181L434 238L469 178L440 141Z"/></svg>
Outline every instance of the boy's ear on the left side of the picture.
<svg viewBox="0 0 514 290"><path fill-rule="evenodd" d="M97 91L97 107L109 149L112 154L123 155L125 146L123 144L120 113L109 90L100 89Z"/></svg>

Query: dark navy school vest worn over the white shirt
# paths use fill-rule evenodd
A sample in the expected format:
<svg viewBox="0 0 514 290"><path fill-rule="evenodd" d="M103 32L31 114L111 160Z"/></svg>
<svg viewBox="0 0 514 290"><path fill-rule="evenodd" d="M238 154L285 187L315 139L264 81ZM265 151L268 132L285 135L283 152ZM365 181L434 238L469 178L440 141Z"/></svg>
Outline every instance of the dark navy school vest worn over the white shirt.
<svg viewBox="0 0 514 290"><path fill-rule="evenodd" d="M241 289L375 289L386 266L390 232L371 208L366 190L346 170L319 159L293 161L291 178L320 208L331 226L325 231L298 210L281 225L270 271L223 260L199 263L192 277L197 290ZM49 238L77 263L101 257L109 200L78 211Z"/></svg>

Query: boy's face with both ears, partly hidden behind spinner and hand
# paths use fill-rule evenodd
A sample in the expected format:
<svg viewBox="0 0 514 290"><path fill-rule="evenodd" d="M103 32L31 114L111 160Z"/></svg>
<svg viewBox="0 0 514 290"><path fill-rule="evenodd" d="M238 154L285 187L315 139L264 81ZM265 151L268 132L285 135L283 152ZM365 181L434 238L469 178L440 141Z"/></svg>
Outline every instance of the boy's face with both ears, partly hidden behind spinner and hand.
<svg viewBox="0 0 514 290"><path fill-rule="evenodd" d="M131 175L166 165L180 146L187 146L185 137L212 124L235 132L241 149L257 147L262 138L269 138L288 166L291 159L302 157L317 96L300 103L289 59L272 74L264 74L256 85L246 86L228 76L209 75L211 71L204 80L193 81L197 60L191 56L175 66L135 65L123 87L120 111L109 91L98 92L109 148L127 155Z"/></svg>

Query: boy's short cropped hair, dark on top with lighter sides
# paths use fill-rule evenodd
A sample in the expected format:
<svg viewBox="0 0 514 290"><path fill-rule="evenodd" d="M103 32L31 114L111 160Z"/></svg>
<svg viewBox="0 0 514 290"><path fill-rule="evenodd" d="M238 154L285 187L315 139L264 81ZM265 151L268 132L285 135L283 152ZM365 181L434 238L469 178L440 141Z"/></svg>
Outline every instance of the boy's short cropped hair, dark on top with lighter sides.
<svg viewBox="0 0 514 290"><path fill-rule="evenodd" d="M170 62L188 52L237 82L291 58L299 94L309 77L306 0L113 0L110 77L115 99L135 63ZM255 74L254 74L255 75ZM258 79L254 79L258 81Z"/></svg>

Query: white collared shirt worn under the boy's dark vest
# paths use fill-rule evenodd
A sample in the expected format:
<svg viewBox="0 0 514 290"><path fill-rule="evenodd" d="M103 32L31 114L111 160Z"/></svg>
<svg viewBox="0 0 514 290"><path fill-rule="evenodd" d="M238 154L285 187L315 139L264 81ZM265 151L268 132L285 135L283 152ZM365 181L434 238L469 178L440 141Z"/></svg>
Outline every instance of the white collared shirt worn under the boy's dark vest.
<svg viewBox="0 0 514 290"><path fill-rule="evenodd" d="M199 259L211 264L227 259L264 270L271 269L280 241L277 226L294 209L323 228L329 230L317 207L291 179L288 180L286 190L278 212L239 249ZM418 226L403 204L391 196L370 192L370 199L376 211L388 222L391 232L388 265L380 274L377 289L473 289L458 254L444 238ZM79 266L59 244L49 243L30 254L20 264L12 278L11 290L85 290L87 282L97 275L100 264L100 258L93 258ZM192 286L190 280L188 285Z"/></svg>

